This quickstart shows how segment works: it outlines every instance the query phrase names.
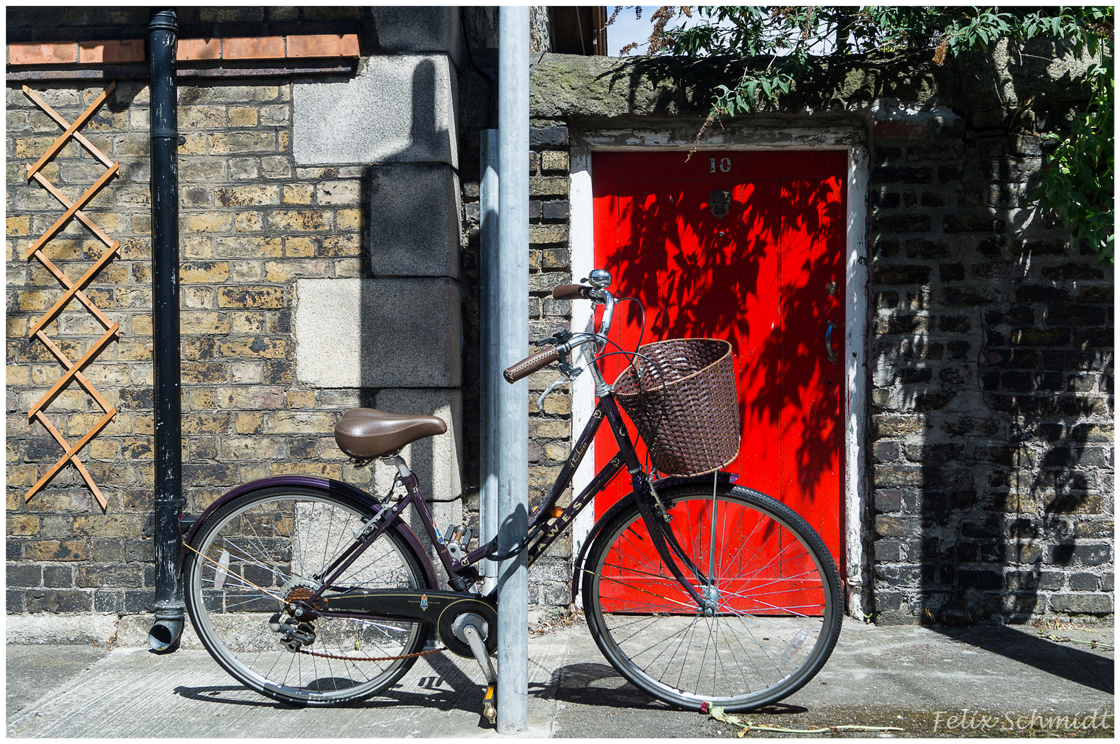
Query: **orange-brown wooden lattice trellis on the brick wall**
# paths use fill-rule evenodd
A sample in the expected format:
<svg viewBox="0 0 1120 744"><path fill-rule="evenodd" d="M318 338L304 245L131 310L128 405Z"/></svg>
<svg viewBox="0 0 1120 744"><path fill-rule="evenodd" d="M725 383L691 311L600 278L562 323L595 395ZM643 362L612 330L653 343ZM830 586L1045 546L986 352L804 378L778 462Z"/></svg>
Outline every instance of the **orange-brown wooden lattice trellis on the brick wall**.
<svg viewBox="0 0 1120 744"><path fill-rule="evenodd" d="M32 102L35 102L35 105L43 109L43 111L48 116L54 119L58 123L58 125L65 130L58 136L58 139L55 140L54 144L47 148L47 151L43 153L43 157L39 158L38 161L27 167L28 180L34 178L36 181L38 181L39 185L43 188L45 188L53 197L58 199L58 201L65 208L65 211L57 220L55 220L54 225L48 227L47 232L45 232L41 236L39 236L39 238L34 243L31 243L31 245L28 247L27 261L30 261L31 256L38 258L39 262L46 267L46 270L52 274L54 274L55 279L57 279L59 283L62 283L63 288L65 288L65 291L63 292L62 296L59 296L58 300L53 305L50 305L49 310L47 310L38 320L31 323L31 327L28 330L28 337L38 338L40 341L43 341L44 346L46 346L47 349L49 349L50 352L55 355L58 361L63 365L64 371L62 377L58 378L58 382L52 385L50 389L48 389L46 394L41 398L39 398L39 402L36 403L34 406L31 406L31 409L27 413L28 418L37 420L40 424L43 424L44 428L46 428L47 432L53 437L55 437L55 441L58 442L59 446L63 448L64 453L63 456L60 456L54 465L48 468L47 471L43 473L43 475L35 483L35 486L28 489L27 495L24 497L25 501L30 500L31 497L35 496L39 491L39 489L41 489L52 478L54 478L55 473L57 473L67 462L73 462L74 468L76 468L78 473L81 473L82 479L86 482L86 486L90 487L90 490L93 492L93 496L97 499L97 502L101 505L101 508L105 509L108 507L108 503L105 502L105 497L101 493L101 489L97 488L97 484L93 482L93 477L90 475L90 472L85 469L85 465L83 465L82 461L78 460L77 452L86 444L88 444L94 436L100 434L101 431L109 425L109 422L111 422L113 420L113 416L116 415L116 407L109 405L109 402L105 401L105 398L101 395L101 393L97 392L97 388L93 386L93 383L91 383L88 378L86 378L86 376L82 374L82 368L85 367L85 365L87 365L94 357L96 357L102 351L102 349L104 349L105 346L113 339L113 337L116 336L119 331L119 324L111 322L110 319L105 316L105 313L102 312L101 309L97 308L97 305L95 305L90 300L88 296L86 296L85 292L82 291L82 288L84 288L86 283L88 283L90 280L92 280L96 275L96 273L101 271L101 269L106 263L109 263L109 261L113 257L113 255L116 254L121 244L119 241L114 241L111 237L109 237L109 235L106 235L103 229L97 227L94 224L94 222L90 219L90 217L82 211L82 207L90 199L92 199L94 195L96 195L97 191L101 190L101 188L105 183L109 182L109 179L111 179L113 176L116 175L116 171L120 168L120 163L114 162L110 160L108 157L105 157L105 154L101 152L101 150L94 147L93 143L90 142L90 140L87 140L85 136L82 135L81 132L78 132L78 129L81 129L82 124L84 124L86 120L93 115L93 113L97 110L97 107L105 102L105 98L109 97L109 94L112 93L113 88L115 87L116 83L110 83L109 87L102 91L101 94L96 98L94 98L93 103L91 103L90 106L84 112L82 112L82 115L75 119L74 123L72 124L67 122L65 119L63 119L58 114L58 112L56 112L54 109L47 105L47 103L43 98L36 95L35 91L27 87L26 85L24 86L24 94ZM66 196L63 195L63 192L59 191L55 187L55 185L48 181L46 177L40 172L43 166L45 166L47 161L50 160L50 158L53 158L59 150L62 150L62 148L66 144L66 142L71 138L77 140L77 142L81 143L82 147L84 147L90 152L90 154L92 154L94 158L101 161L101 163L104 164L106 168L105 172L102 173L101 178L94 181L94 183L85 190L85 194L78 197L78 199L74 203L71 203L69 199L67 199ZM53 238L58 233L58 230L60 230L63 226L66 225L66 223L73 217L76 217L78 220L81 220L83 225L90 228L90 230L97 237L97 239L100 239L102 243L105 244L105 252L101 255L100 258L97 258L96 262L94 262L92 266L90 266L90 269L84 274L82 274L82 277L78 279L76 282L71 281L71 279L65 274L65 272L58 269L58 266L56 266L49 258L47 258L46 255L44 255L43 251L44 247L47 245L47 243L50 241L50 238ZM94 318L96 318L97 321L105 328L105 332L104 335L102 335L100 339L97 339L93 343L93 346L90 347L90 349L85 354L82 355L82 357L77 361L71 361L71 359L66 357L63 350L59 349L58 346L55 345L49 338L47 338L47 335L43 332L43 329L48 323L50 323L50 321L53 321L58 316L59 312L62 312L63 308L65 308L71 300L75 298L77 298L78 302L85 305L85 309L88 310L90 313ZM77 382L77 384L90 395L90 397L92 397L97 403L97 405L101 406L101 409L105 412L105 415L102 416L101 420L96 424L94 424L90 431L83 434L77 442L75 442L74 444L68 444L66 440L63 439L62 433L57 428L55 428L54 424L52 424L50 421L47 418L47 416L44 414L44 408L46 408L46 406L49 405L50 401L53 401L54 397L63 388L69 385L72 380Z"/></svg>

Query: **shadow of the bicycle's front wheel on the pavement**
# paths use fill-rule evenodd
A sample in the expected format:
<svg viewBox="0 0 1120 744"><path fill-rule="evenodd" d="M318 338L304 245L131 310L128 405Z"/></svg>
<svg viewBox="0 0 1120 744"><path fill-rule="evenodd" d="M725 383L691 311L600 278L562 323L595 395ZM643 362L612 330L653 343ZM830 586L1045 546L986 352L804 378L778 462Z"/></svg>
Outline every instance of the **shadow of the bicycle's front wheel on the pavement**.
<svg viewBox="0 0 1120 744"><path fill-rule="evenodd" d="M536 688L534 690L534 688ZM530 682L529 694L536 697L552 696L560 703L572 705L589 705L607 708L629 708L636 710L675 710L673 706L650 697L634 685L631 685L614 667L599 662L570 663L552 672L552 679L547 684ZM775 703L756 708L752 713L771 715L790 715L808 713L800 705Z"/></svg>

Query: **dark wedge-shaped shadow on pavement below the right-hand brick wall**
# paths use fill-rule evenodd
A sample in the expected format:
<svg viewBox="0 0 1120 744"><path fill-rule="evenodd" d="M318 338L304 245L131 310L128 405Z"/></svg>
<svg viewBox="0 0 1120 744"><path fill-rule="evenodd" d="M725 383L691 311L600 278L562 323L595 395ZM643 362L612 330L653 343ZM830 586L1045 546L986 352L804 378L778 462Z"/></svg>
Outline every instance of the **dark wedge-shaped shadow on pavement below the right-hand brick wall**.
<svg viewBox="0 0 1120 744"><path fill-rule="evenodd" d="M1099 653L1063 646L1004 625L1001 628L933 628L960 643L998 653L1039 671L1113 694L1116 662ZM1071 661L1073 663L1071 663Z"/></svg>

